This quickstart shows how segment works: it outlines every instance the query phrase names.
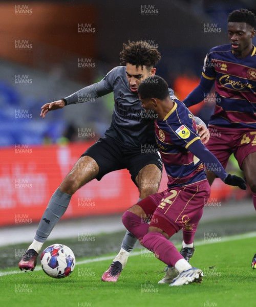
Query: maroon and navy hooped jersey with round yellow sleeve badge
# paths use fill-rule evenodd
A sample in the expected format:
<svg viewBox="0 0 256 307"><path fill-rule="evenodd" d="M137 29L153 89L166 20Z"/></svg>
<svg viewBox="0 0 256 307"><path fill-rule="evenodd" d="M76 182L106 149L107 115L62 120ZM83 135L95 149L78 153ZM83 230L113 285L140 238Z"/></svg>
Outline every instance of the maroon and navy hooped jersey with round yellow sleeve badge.
<svg viewBox="0 0 256 307"><path fill-rule="evenodd" d="M163 120L155 121L159 152L168 176L168 187L206 179L203 163L187 148L199 140L194 116L174 98L174 107Z"/></svg>

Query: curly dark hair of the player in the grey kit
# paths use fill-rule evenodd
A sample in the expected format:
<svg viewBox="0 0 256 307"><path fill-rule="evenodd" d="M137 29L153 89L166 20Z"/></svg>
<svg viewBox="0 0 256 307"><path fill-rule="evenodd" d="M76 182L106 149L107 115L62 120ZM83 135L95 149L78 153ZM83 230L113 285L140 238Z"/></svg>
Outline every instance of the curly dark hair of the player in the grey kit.
<svg viewBox="0 0 256 307"><path fill-rule="evenodd" d="M121 65L130 63L136 68L143 65L147 69L154 67L161 59L160 52L146 41L130 41L123 43L123 50L120 52Z"/></svg>

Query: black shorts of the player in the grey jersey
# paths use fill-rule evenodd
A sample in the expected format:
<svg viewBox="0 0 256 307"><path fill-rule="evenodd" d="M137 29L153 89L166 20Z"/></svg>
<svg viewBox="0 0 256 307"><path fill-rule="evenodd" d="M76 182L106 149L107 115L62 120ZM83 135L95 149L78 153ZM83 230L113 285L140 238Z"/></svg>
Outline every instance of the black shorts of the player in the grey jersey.
<svg viewBox="0 0 256 307"><path fill-rule="evenodd" d="M89 156L97 162L99 173L96 179L98 181L111 171L126 168L131 174L132 181L136 184L135 179L144 166L155 164L161 172L163 170L160 154L156 148L151 149L144 150L145 153L143 153L143 148L128 149L110 138L100 138L81 157Z"/></svg>

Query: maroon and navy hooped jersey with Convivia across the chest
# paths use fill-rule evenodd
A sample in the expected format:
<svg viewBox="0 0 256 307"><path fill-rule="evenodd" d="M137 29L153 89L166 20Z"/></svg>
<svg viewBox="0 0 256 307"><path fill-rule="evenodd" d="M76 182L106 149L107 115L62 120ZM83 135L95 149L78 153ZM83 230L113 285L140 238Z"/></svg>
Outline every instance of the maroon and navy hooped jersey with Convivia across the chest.
<svg viewBox="0 0 256 307"><path fill-rule="evenodd" d="M205 57L202 75L215 79L216 107L209 124L256 129L256 48L240 59L230 44L214 47Z"/></svg>

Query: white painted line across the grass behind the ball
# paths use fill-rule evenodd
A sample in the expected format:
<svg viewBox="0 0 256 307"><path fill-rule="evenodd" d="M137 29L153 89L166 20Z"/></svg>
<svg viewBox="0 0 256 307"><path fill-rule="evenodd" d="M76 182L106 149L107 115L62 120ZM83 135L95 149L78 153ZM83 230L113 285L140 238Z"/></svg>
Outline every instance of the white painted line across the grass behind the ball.
<svg viewBox="0 0 256 307"><path fill-rule="evenodd" d="M221 242L231 242L231 241L235 241L235 240L242 240L242 239L247 239L247 238L253 238L256 237L256 231L253 232L247 232L244 234L236 234L236 235L232 235L232 236L226 236L226 237L222 237L221 240L200 240L200 241L196 241L195 242L195 246L200 246L200 245L207 245L207 244L214 244L214 243L221 243ZM214 238L213 238L214 239ZM177 248L181 248L181 245L177 245ZM145 251L144 253L151 253L150 251ZM140 252L133 252L130 257L132 256L138 256L141 254ZM76 265L83 265L83 264L90 264L92 262L98 262L98 261L104 261L104 260L112 260L113 256L104 256L104 257L98 257L98 258L93 258L93 259L86 259L86 260L82 260L82 261L77 261ZM37 267L35 268L34 271L40 271L41 267ZM18 273L24 273L23 271L10 271L10 272L0 272L0 276L6 276L6 275L12 275L12 274L18 274Z"/></svg>

